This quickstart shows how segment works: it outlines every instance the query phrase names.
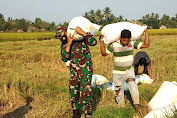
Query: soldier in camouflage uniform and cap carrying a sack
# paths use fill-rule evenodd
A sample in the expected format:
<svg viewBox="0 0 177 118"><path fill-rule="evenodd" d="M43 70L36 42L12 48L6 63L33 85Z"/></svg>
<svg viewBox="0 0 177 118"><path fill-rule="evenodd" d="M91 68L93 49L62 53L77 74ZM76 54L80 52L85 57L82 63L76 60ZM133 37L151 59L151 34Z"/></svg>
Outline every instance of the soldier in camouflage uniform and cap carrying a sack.
<svg viewBox="0 0 177 118"><path fill-rule="evenodd" d="M88 45L95 46L96 39L76 27L75 31L84 36L83 40L75 41L71 35L67 34L64 26L59 28L58 34L61 44L61 56L64 62L70 60L70 80L69 92L71 94L71 106L73 109L73 118L80 118L80 110L85 112L85 118L91 118L91 80L93 75L93 66L91 54Z"/></svg>

